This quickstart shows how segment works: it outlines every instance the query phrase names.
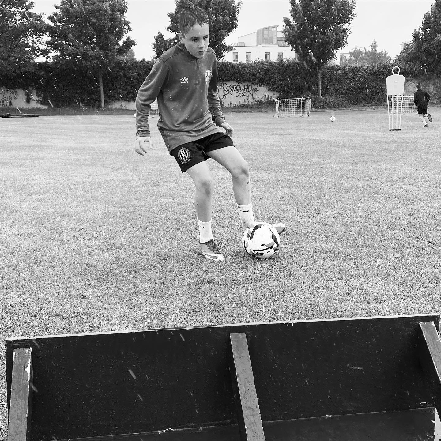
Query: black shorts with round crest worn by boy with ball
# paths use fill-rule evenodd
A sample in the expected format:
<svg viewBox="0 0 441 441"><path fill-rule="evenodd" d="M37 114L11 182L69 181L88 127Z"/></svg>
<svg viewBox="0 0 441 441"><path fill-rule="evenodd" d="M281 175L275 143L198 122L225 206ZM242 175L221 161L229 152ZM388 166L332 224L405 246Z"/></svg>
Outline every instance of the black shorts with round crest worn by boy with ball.
<svg viewBox="0 0 441 441"><path fill-rule="evenodd" d="M175 147L170 154L175 157L181 172L185 173L193 165L206 161L212 150L229 146L234 146L232 139L219 132Z"/></svg>

